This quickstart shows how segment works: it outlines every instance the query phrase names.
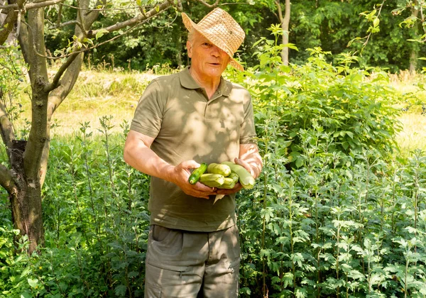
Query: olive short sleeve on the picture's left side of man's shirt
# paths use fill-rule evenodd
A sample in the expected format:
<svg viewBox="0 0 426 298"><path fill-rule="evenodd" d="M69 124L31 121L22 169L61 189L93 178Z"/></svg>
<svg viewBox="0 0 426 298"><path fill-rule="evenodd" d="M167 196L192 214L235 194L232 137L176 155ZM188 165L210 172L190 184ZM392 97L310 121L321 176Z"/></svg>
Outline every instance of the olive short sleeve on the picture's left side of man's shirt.
<svg viewBox="0 0 426 298"><path fill-rule="evenodd" d="M130 129L155 138L160 132L163 111L167 96L163 94L160 84L153 80L143 92L131 121Z"/></svg>

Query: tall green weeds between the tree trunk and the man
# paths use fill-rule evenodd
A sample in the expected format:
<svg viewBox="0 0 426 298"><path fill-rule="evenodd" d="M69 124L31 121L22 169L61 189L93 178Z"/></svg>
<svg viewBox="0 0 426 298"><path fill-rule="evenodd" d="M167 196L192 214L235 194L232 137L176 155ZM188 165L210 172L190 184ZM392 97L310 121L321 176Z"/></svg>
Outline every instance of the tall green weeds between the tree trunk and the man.
<svg viewBox="0 0 426 298"><path fill-rule="evenodd" d="M111 116L99 121L100 135L82 123L71 140L52 140L40 255L10 249L16 231L1 214L0 297L143 297L148 177L122 158L129 125L113 135Z"/></svg>

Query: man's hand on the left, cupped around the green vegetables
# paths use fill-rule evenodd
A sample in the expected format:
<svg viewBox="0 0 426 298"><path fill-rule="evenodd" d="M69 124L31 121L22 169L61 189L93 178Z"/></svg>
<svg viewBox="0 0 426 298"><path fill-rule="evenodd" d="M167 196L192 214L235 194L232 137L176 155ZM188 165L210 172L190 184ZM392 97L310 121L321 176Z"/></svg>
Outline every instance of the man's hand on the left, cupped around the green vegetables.
<svg viewBox="0 0 426 298"><path fill-rule="evenodd" d="M199 197L204 199L209 199L209 195L217 194L217 189L208 187L200 182L195 184L190 184L188 179L191 175L191 169L196 169L200 167L200 164L195 160L187 160L180 162L179 165L176 165L173 169L173 183L178 185L185 194L189 194L192 197Z"/></svg>

